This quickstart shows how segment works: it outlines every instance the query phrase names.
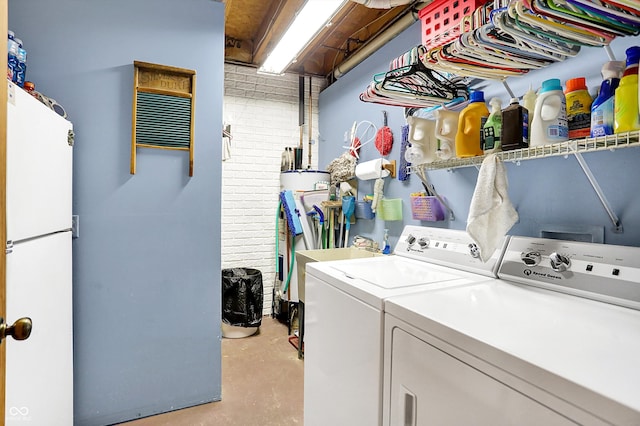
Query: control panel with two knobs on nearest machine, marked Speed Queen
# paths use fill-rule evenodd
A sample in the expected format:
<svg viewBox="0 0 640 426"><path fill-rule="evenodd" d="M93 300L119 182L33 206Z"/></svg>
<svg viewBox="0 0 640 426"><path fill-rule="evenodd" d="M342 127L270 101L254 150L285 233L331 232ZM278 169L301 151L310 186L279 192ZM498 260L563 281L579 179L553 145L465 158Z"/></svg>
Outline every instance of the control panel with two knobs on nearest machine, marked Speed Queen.
<svg viewBox="0 0 640 426"><path fill-rule="evenodd" d="M498 276L640 309L640 247L511 237Z"/></svg>

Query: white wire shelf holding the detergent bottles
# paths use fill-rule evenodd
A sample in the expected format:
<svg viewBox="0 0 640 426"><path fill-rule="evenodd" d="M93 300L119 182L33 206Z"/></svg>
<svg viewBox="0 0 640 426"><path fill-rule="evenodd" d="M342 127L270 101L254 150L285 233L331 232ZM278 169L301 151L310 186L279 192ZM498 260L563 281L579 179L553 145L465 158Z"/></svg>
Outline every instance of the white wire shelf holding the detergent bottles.
<svg viewBox="0 0 640 426"><path fill-rule="evenodd" d="M575 153L596 152L614 150L618 148L639 147L640 131L619 133L597 138L573 139L550 145L534 146L530 148L515 149L512 151L496 152L498 158L504 162L518 162L533 160L536 158L555 157L559 155L571 155ZM411 169L423 170L457 169L461 167L480 166L486 155L469 158L452 158L449 160L434 161L412 165Z"/></svg>

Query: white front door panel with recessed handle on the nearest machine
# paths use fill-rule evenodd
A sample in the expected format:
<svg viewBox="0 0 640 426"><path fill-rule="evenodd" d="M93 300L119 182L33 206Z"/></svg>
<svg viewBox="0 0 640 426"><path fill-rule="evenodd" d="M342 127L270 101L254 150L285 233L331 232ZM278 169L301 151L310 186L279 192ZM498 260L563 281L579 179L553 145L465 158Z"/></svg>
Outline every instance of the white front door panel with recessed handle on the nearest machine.
<svg viewBox="0 0 640 426"><path fill-rule="evenodd" d="M392 333L385 425L576 424L398 327Z"/></svg>

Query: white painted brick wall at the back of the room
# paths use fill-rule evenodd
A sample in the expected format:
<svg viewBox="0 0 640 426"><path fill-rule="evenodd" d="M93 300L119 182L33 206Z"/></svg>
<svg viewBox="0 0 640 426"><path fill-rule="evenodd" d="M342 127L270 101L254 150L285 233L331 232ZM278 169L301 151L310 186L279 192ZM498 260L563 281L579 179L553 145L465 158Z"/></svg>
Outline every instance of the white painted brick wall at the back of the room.
<svg viewBox="0 0 640 426"><path fill-rule="evenodd" d="M313 78L312 140L318 140L318 94ZM264 314L271 313L275 275L275 220L282 151L300 143L298 76L257 74L225 64L224 121L231 125L231 158L222 162L222 268L262 272ZM305 79L303 167L308 164L309 77ZM318 144L312 147L317 169Z"/></svg>

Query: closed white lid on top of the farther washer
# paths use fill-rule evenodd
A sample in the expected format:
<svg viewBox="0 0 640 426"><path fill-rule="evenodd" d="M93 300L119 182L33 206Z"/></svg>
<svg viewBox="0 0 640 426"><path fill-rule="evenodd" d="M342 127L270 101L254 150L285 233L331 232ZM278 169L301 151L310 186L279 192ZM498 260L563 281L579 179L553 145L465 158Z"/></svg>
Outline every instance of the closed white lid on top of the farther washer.
<svg viewBox="0 0 640 426"><path fill-rule="evenodd" d="M359 259L336 264L333 268L342 272L348 278L360 279L386 289L411 287L461 278L461 275L435 270L435 268L429 267L428 264L407 261L396 256Z"/></svg>

